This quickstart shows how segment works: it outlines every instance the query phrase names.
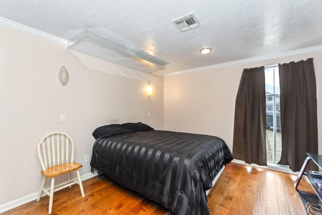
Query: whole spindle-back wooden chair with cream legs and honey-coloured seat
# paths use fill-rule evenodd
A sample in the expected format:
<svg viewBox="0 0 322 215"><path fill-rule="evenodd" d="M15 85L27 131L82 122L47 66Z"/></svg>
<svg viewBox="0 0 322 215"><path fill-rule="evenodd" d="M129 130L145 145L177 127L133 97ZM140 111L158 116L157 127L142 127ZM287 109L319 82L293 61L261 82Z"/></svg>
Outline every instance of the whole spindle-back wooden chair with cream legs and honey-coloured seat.
<svg viewBox="0 0 322 215"><path fill-rule="evenodd" d="M51 213L54 192L73 184L79 184L82 196L84 189L78 169L83 165L73 162L74 143L70 136L65 133L55 132L44 136L38 144L38 157L42 166L41 174L44 176L37 201L39 201L42 191L49 196L48 213ZM78 181L70 178L70 172L76 171ZM67 173L68 181L54 186L55 176ZM49 189L44 188L46 178L51 178Z"/></svg>

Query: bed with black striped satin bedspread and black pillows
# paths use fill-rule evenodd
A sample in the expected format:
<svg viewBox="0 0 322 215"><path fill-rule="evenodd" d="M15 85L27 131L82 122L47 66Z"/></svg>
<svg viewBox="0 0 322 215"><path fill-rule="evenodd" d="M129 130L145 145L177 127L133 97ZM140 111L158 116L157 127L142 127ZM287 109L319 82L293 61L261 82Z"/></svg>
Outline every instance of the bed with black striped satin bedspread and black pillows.
<svg viewBox="0 0 322 215"><path fill-rule="evenodd" d="M209 214L205 190L232 160L219 137L154 130L140 122L101 126L93 136L93 169L172 214Z"/></svg>

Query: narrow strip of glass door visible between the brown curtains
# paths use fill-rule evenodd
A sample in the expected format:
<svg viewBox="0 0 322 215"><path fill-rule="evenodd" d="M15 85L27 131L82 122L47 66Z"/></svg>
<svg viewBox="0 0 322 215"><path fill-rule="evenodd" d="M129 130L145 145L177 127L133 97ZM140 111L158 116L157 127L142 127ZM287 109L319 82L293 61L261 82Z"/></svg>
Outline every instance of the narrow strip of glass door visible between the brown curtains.
<svg viewBox="0 0 322 215"><path fill-rule="evenodd" d="M282 151L280 81L278 66L265 67L266 154L267 162L276 164Z"/></svg>

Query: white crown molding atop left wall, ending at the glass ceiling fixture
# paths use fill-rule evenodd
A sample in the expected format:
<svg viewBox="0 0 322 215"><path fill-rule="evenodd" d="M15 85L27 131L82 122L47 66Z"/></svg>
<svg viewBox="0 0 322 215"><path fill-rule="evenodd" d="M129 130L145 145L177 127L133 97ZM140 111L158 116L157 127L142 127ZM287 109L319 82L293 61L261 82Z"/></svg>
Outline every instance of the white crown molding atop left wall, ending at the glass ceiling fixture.
<svg viewBox="0 0 322 215"><path fill-rule="evenodd" d="M27 34L30 34L30 35L33 35L33 36L36 36L36 37L39 37L39 38L42 38L42 39L46 39L46 40L49 40L51 42L55 42L55 43L58 43L58 44L61 44L61 45L64 45L64 46L67 46L67 43L68 43L68 41L65 40L65 39L62 39L60 37L56 37L56 36L51 35L51 34L47 34L47 33L43 32L43 31L39 31L39 30L36 30L34 28L30 28L28 26L16 23L14 21L5 19L3 17L0 17L0 25L6 26L8 28L15 29L15 30L18 30L18 31L21 31L21 32L24 32L24 33L27 33Z"/></svg>

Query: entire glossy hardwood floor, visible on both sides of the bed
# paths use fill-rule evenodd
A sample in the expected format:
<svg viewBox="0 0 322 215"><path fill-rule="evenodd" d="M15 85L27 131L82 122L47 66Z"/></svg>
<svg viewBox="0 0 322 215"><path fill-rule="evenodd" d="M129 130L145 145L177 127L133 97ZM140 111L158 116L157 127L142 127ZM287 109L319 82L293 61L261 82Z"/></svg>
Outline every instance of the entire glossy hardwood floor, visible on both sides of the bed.
<svg viewBox="0 0 322 215"><path fill-rule="evenodd" d="M305 214L294 189L296 175L230 163L208 194L210 214ZM302 182L303 181L303 182ZM302 180L299 189L313 192ZM166 214L167 209L118 186L109 179L83 182L54 194L52 214ZM48 196L6 211L7 214L47 214Z"/></svg>

